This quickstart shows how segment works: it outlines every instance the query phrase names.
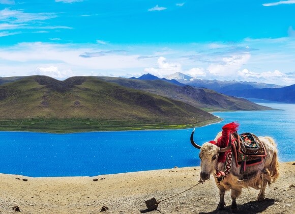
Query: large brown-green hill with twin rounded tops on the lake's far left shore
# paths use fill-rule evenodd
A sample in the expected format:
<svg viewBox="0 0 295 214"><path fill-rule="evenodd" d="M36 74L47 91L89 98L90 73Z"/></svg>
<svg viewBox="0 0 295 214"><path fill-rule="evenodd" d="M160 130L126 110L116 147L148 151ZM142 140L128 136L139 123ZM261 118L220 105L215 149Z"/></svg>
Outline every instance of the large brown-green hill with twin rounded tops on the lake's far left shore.
<svg viewBox="0 0 295 214"><path fill-rule="evenodd" d="M218 120L188 103L96 77L30 76L0 86L0 130L180 128Z"/></svg>

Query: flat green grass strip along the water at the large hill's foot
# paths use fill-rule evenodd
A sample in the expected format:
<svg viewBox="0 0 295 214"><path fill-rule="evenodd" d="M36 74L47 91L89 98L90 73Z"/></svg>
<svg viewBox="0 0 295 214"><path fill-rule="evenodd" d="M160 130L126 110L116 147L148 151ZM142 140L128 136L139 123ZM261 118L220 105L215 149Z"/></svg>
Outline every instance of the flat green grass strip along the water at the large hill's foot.
<svg viewBox="0 0 295 214"><path fill-rule="evenodd" d="M219 119L220 120L220 119ZM102 119L0 119L1 131L32 131L49 133L72 133L88 131L121 131L121 130L149 130L149 129L182 129L202 126L218 120L203 121L196 124L172 124L159 121L137 120L102 120Z"/></svg>

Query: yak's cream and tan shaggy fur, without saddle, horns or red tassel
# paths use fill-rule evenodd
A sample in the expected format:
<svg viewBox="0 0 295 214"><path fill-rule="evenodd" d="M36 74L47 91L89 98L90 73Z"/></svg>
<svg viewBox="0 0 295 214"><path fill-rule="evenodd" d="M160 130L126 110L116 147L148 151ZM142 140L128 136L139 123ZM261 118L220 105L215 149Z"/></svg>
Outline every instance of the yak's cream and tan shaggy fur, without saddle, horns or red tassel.
<svg viewBox="0 0 295 214"><path fill-rule="evenodd" d="M219 132L214 142L220 141L222 132ZM277 148L274 140L270 137L258 137L259 140L264 144L267 156L263 161L254 166L247 166L248 179L240 180L240 166L237 166L233 161L231 166L231 172L220 182L215 178L217 187L219 188L220 201L217 209L223 209L224 194L225 191L231 190L231 211L238 211L237 203L235 199L242 193L242 188L254 188L260 190L258 194L258 201L264 199L264 191L267 184L271 184L278 179L279 176L279 162L277 156ZM217 144L217 143L216 143ZM200 178L206 180L210 178L210 174L217 173L218 171L224 171L225 163L218 161L220 153L218 151L220 147L215 145L213 142L204 143L200 148L200 159L201 159L201 173Z"/></svg>

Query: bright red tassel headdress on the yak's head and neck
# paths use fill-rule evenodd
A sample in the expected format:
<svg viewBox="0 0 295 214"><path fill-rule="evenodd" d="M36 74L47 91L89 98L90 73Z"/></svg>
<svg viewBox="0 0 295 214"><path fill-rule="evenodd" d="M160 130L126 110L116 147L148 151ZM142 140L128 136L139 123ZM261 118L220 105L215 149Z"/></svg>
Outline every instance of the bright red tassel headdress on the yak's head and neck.
<svg viewBox="0 0 295 214"><path fill-rule="evenodd" d="M229 133L237 131L239 127L239 123L231 122L222 127L221 137L218 138L217 142L210 141L210 143L215 144L220 148L224 148L228 145L229 142ZM219 154L218 162L224 163L226 161L226 156L229 151Z"/></svg>

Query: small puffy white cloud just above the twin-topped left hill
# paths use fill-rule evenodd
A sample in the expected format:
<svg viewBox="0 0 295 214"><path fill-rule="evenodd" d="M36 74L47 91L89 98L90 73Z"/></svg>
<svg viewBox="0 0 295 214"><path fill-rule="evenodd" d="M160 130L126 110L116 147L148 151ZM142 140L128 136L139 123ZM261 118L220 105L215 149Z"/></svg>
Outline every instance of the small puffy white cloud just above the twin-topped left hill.
<svg viewBox="0 0 295 214"><path fill-rule="evenodd" d="M45 75L45 76L51 76L56 79L66 79L68 77L73 76L73 72L71 70L58 70L57 67L50 66L50 67L37 67L35 71L33 71L33 74L36 75Z"/></svg>

